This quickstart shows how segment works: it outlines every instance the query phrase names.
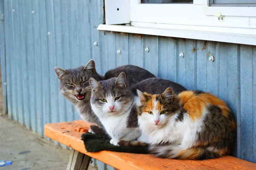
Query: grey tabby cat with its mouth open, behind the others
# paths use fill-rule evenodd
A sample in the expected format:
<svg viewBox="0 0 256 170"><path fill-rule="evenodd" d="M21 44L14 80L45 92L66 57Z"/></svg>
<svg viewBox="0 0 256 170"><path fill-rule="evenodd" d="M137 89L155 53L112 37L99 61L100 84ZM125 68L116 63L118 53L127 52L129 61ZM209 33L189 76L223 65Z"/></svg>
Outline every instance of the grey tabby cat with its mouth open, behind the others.
<svg viewBox="0 0 256 170"><path fill-rule="evenodd" d="M120 72L127 72L130 77L128 85L139 82L143 79L155 77L149 71L135 65L124 65L108 71L105 76L96 72L95 62L91 59L87 65L78 68L63 70L55 67L55 73L60 79L59 89L61 94L76 107L81 118L86 122L100 124L97 116L91 111L90 93L91 88L88 80L93 77L97 81L117 77Z"/></svg>

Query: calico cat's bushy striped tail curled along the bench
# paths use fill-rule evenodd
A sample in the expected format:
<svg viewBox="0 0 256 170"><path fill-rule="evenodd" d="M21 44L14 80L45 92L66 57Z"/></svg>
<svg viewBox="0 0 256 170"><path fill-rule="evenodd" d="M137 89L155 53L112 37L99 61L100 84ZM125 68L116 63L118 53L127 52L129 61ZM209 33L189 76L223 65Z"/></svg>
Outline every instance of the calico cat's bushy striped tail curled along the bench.
<svg viewBox="0 0 256 170"><path fill-rule="evenodd" d="M210 147L198 146L183 150L181 145L153 145L149 147L149 152L160 158L169 159L214 159L229 153L229 150L215 150ZM223 154L223 155L221 155Z"/></svg>

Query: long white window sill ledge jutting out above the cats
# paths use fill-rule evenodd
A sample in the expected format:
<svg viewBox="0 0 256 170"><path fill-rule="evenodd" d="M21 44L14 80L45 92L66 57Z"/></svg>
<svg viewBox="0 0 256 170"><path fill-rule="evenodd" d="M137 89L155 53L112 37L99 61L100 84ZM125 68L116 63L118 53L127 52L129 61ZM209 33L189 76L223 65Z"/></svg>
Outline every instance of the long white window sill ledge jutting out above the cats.
<svg viewBox="0 0 256 170"><path fill-rule="evenodd" d="M238 44L256 45L256 35L230 34L212 31L179 30L167 28L147 28L137 26L118 26L101 24L97 28L102 31L118 31L135 34L148 34L166 37L189 38L196 40L210 40L218 42L230 42Z"/></svg>

